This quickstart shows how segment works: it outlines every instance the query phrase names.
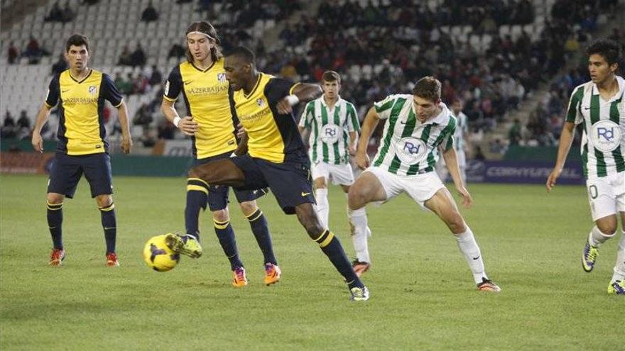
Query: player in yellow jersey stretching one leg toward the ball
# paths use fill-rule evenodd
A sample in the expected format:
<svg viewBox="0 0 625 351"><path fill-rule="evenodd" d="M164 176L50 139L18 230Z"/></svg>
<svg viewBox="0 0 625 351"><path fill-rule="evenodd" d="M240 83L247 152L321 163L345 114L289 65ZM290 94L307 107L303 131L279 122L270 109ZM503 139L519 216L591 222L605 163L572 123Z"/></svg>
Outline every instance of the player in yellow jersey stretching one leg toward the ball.
<svg viewBox="0 0 625 351"><path fill-rule="evenodd" d="M316 84L293 84L256 70L254 53L234 48L224 67L234 90L234 107L246 130L237 157L191 169L190 177L239 189L269 187L286 214L295 214L306 232L342 274L354 301L369 299L369 291L354 273L338 238L322 225L312 206L310 160L292 106L321 95ZM244 152L247 150L247 153ZM174 243L180 251L182 240Z"/></svg>

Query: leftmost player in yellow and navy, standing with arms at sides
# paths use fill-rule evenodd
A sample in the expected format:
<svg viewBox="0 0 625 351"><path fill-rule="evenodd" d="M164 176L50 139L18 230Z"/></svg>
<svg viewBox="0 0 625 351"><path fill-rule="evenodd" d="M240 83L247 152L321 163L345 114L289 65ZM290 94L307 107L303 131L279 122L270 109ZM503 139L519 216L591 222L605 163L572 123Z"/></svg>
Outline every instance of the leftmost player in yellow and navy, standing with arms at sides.
<svg viewBox="0 0 625 351"><path fill-rule="evenodd" d="M117 108L121 126L121 150L129 153L132 147L126 103L107 74L87 67L89 40L84 35L72 35L65 44L65 59L70 65L55 74L45 104L41 106L33 130L35 150L43 152L41 128L50 109L58 104L58 146L48 181L48 226L53 250L49 264L58 266L65 258L61 225L65 196L72 198L82 174L85 174L102 216L104 238L107 242L107 266L119 266L115 253L116 218L113 204L113 186L109 144L104 129L104 100Z"/></svg>

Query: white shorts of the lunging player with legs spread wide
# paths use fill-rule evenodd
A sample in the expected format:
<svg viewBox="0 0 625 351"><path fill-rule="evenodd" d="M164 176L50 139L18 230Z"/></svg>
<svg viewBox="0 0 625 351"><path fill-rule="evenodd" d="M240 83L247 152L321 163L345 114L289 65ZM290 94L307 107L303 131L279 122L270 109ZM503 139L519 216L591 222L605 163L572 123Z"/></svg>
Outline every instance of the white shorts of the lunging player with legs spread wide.
<svg viewBox="0 0 625 351"><path fill-rule="evenodd" d="M425 207L425 201L432 199L436 191L445 187L436 172L399 176L379 167L369 167L364 172L374 174L386 191L386 201L406 192L417 204Z"/></svg>

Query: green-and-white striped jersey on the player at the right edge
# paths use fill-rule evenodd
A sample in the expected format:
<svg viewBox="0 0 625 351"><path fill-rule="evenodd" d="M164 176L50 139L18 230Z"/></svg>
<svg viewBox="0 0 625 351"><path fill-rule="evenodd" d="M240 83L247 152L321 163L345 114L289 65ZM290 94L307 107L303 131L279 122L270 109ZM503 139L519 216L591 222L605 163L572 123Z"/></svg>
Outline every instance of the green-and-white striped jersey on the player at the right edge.
<svg viewBox="0 0 625 351"><path fill-rule="evenodd" d="M616 76L619 92L609 101L599 95L592 81L575 88L566 121L582 123L584 176L606 177L625 171L625 80Z"/></svg>

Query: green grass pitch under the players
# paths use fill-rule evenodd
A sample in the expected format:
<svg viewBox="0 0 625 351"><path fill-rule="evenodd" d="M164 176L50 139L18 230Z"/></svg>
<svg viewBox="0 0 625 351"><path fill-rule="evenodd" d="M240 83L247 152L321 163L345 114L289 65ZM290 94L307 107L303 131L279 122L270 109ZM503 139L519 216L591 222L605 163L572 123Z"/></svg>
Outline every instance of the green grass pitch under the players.
<svg viewBox="0 0 625 351"><path fill-rule="evenodd" d="M65 201L67 257L48 267L46 178L0 178L1 350L619 350L625 299L608 296L610 240L594 272L580 255L592 226L583 186L469 184L462 209L501 294L480 293L455 240L407 196L369 207L371 299L352 303L342 279L295 216L259 201L283 270L262 284L262 256L241 211L231 216L249 286L230 286L208 213L205 254L153 272L152 235L183 230L185 179L116 177L121 267L104 267L99 211L83 179ZM330 228L353 257L346 200L330 189ZM619 234L620 235L620 234Z"/></svg>

